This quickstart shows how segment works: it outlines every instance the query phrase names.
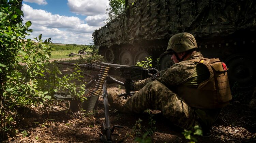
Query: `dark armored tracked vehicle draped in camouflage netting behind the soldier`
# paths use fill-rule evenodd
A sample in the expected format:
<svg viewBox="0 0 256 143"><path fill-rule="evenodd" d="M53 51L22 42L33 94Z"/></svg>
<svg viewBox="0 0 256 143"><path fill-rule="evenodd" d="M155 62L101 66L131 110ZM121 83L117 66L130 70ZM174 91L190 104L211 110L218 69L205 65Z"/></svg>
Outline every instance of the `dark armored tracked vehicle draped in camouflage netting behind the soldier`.
<svg viewBox="0 0 256 143"><path fill-rule="evenodd" d="M255 0L127 0L124 13L95 30L93 40L108 63L134 65L151 56L162 70L173 64L162 54L169 38L188 32L205 57L226 62L231 87L247 88L255 83L255 28Z"/></svg>

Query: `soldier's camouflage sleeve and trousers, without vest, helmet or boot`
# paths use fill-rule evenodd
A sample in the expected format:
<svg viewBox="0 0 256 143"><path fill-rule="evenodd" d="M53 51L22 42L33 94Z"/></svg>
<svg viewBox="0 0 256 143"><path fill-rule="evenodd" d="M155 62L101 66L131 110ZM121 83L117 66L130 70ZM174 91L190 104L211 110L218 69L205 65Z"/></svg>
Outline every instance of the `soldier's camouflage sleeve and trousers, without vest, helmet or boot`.
<svg viewBox="0 0 256 143"><path fill-rule="evenodd" d="M190 59L201 58L198 52ZM161 110L172 123L183 128L193 127L196 124L193 109L170 89L190 79L195 66L192 61L182 61L160 71L160 76L154 80L148 78L135 82L135 90L139 91L125 102L124 111L140 113L145 109Z"/></svg>

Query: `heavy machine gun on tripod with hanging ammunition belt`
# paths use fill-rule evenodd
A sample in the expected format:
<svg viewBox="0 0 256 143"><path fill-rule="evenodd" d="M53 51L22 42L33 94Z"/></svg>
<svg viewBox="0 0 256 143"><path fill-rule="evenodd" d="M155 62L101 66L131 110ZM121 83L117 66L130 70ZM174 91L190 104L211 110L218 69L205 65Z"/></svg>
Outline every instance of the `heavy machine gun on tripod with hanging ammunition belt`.
<svg viewBox="0 0 256 143"><path fill-rule="evenodd" d="M105 111L105 124L103 130L103 136L101 136L101 140L103 142L111 142L111 133L114 132L115 127L122 126L113 126L112 129L110 127L110 118L109 118L109 109L108 109L108 93L107 93L107 84L117 83L119 85L131 84L134 80L143 80L149 77L154 76L159 71L155 68L144 68L139 66L129 66L129 65L120 65L120 64L111 64L111 63L101 63L97 64L75 64L75 63L67 63L56 61L57 64L70 65L70 66L79 66L80 68L85 68L88 70L96 70L100 71L100 74L94 76L94 78L86 85L86 89L91 87L93 83L97 82L93 88L90 88L86 91L84 97L99 97L99 94L103 90L103 100L104 100L104 111ZM119 76L125 79L125 83L121 82L109 75ZM119 96L124 96L124 99L127 99L128 96L132 96L134 91L130 91L130 89L126 88L124 94L120 94ZM97 99L98 100L98 99Z"/></svg>

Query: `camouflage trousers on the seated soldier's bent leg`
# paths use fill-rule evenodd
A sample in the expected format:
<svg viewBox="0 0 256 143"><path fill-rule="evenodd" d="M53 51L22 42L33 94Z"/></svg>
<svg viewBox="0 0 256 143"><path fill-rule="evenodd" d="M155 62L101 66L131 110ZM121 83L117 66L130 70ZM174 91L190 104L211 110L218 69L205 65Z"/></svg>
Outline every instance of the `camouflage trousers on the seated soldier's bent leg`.
<svg viewBox="0 0 256 143"><path fill-rule="evenodd" d="M164 117L182 128L198 124L193 109L164 84L149 82L124 103L124 112L141 113L145 109L161 110Z"/></svg>

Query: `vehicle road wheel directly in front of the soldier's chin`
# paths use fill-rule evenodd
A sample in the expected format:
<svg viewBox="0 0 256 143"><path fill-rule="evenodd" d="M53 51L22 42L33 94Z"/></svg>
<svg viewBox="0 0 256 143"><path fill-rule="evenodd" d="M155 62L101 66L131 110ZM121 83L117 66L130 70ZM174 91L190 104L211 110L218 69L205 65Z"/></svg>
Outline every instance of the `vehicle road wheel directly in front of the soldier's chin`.
<svg viewBox="0 0 256 143"><path fill-rule="evenodd" d="M170 54L162 54L159 57L159 61L157 62L157 68L159 70L164 70L172 66L174 62L171 60Z"/></svg>

